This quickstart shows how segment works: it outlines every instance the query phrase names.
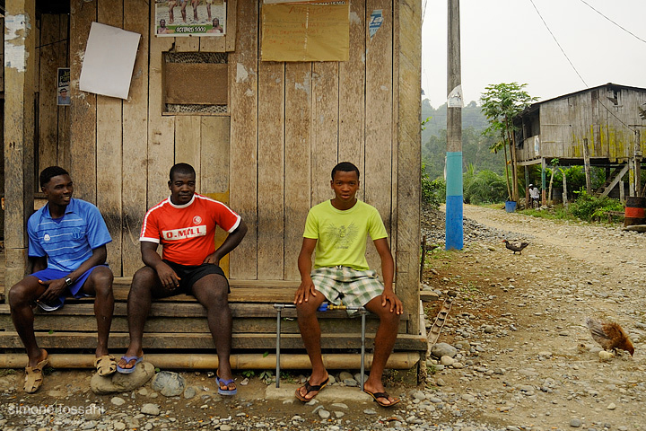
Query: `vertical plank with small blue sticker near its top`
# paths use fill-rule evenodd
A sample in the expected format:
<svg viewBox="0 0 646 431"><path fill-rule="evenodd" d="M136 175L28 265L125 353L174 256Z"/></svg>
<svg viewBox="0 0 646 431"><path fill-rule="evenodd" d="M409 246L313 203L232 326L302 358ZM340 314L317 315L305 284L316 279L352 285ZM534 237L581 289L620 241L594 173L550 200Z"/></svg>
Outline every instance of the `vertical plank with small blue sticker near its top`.
<svg viewBox="0 0 646 431"><path fill-rule="evenodd" d="M393 11L390 0L368 0L366 20L381 10L383 22L371 38L366 33L366 119L365 172L363 193L366 202L376 207L388 235L392 233L392 91L393 91ZM377 251L367 251L371 268L380 268Z"/></svg>

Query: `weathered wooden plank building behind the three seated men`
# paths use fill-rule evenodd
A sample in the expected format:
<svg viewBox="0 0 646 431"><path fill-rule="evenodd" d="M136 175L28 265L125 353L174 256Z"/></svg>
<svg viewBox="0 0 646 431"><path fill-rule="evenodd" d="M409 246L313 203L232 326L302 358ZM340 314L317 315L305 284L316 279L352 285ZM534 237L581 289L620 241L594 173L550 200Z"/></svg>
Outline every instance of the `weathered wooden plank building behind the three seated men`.
<svg viewBox="0 0 646 431"><path fill-rule="evenodd" d="M196 168L197 191L227 203L249 225L223 262L234 316L231 359L240 369L274 366L275 356L263 356L275 347L273 304L292 302L305 217L333 196L330 171L341 161L359 166L359 197L379 209L396 261L405 314L388 366L414 366L426 349L419 298L421 2L349 2L348 55L340 61L264 61L265 3L257 0L221 0L220 37L162 37L155 7L166 3L5 2L0 367L24 366L26 358L6 293L28 271L25 222L42 198L43 168L65 167L74 196L99 207L109 226L117 299L109 347L116 354L127 347L126 298L142 266L144 214L168 196L173 163ZM141 35L127 99L79 88L92 22ZM59 67L70 70L69 105L57 105ZM371 244L369 263L379 270ZM344 312L323 317L329 364L358 367L359 319L348 321ZM369 347L376 323L369 319ZM53 358L88 354L75 366L92 364L95 332L91 301L70 300L36 317L39 344ZM153 303L145 332L144 351L160 366L214 366L205 311L191 297ZM282 347L303 359L284 366L309 366L293 320L283 322ZM354 354L350 364L333 362L347 353Z"/></svg>

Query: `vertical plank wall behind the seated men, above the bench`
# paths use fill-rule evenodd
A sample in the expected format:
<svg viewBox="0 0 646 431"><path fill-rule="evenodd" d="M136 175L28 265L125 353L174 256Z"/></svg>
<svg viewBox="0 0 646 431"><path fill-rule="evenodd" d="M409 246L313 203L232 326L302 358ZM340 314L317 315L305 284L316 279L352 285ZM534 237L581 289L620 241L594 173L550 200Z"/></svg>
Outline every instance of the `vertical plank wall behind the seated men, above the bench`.
<svg viewBox="0 0 646 431"><path fill-rule="evenodd" d="M47 157L69 160L76 196L100 207L114 239L109 262L115 275L131 276L141 265L138 236L145 210L168 197L170 166L187 162L196 169L198 190L228 203L249 225L247 237L231 253L231 280L297 281L308 210L333 197L330 171L347 160L362 174L359 197L379 209L387 226L397 294L407 311L416 310L419 2L352 2L349 60L302 63L261 62L260 4L227 4L224 39L158 38L150 25L153 2L133 0L126 7L120 0L72 0L72 106L58 109L59 122L61 110L70 111L66 120L72 126L63 146L58 131L57 156L48 144ZM375 10L383 22L371 37L368 23ZM143 35L127 101L78 90L92 21ZM62 17L59 22L66 25ZM44 30L42 38L54 38L56 31ZM178 51L228 51L225 112L166 111L162 62L165 53ZM39 57L47 59L44 52ZM54 127L42 124L45 141ZM222 240L219 233L217 241ZM371 267L379 270L370 241L368 253Z"/></svg>

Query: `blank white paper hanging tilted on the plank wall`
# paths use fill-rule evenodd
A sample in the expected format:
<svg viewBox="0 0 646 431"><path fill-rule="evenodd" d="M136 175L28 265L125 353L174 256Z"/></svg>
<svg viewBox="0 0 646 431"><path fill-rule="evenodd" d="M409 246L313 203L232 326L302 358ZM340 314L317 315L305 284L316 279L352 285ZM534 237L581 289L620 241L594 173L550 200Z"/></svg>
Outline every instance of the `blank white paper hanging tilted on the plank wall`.
<svg viewBox="0 0 646 431"><path fill-rule="evenodd" d="M92 22L79 88L127 99L140 39L139 33Z"/></svg>

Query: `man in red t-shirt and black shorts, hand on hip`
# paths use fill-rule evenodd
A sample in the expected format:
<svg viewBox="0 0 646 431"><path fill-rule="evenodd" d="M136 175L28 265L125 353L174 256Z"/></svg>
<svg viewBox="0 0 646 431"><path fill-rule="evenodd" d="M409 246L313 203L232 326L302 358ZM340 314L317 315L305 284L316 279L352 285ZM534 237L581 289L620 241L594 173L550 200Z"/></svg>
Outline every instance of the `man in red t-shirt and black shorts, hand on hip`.
<svg viewBox="0 0 646 431"><path fill-rule="evenodd" d="M236 393L231 375L231 309L229 282L220 268L220 259L235 249L247 233L247 224L222 202L198 195L196 172L190 164L170 168L170 198L148 210L144 217L141 242L145 267L133 277L128 295L130 345L118 363L117 371L130 374L144 355L144 324L153 298L186 293L194 295L207 312L209 329L218 354L218 392ZM215 228L229 233L215 250ZM157 253L163 246L162 257Z"/></svg>

